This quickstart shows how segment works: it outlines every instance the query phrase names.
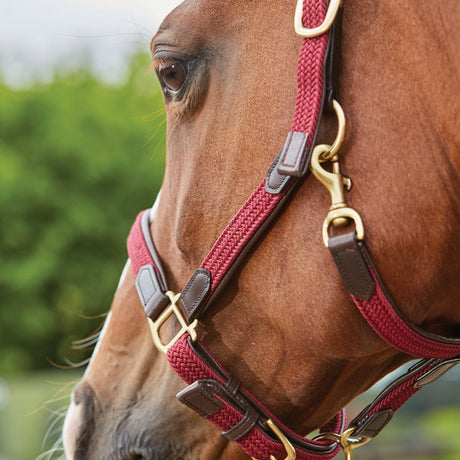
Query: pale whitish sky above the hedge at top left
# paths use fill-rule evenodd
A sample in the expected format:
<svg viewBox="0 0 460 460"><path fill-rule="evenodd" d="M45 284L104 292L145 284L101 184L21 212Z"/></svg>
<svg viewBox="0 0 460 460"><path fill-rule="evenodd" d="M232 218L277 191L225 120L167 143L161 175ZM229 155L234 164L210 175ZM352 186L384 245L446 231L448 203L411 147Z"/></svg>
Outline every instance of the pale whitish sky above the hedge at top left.
<svg viewBox="0 0 460 460"><path fill-rule="evenodd" d="M0 75L12 86L49 80L83 61L117 81L133 49L148 50L181 0L0 0Z"/></svg>

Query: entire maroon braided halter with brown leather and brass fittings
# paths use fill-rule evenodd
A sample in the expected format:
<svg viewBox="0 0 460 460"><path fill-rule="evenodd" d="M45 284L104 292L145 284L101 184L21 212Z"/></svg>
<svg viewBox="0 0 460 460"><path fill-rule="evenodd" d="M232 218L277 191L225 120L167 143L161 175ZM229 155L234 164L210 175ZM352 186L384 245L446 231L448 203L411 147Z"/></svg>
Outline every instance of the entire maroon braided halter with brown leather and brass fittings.
<svg viewBox="0 0 460 460"><path fill-rule="evenodd" d="M330 0L328 5L326 0L298 1L295 29L304 39L291 131L266 177L224 229L180 294L169 291L150 235L154 209L139 214L128 238L136 288L155 346L166 354L173 369L188 384L177 395L178 399L259 460L328 460L341 447L347 459L351 459L353 449L375 437L407 399L460 361L460 339L422 331L403 319L366 248L361 218L346 204L344 190L350 188L351 181L340 174L338 157L345 117L336 102L341 16L341 0ZM337 114L337 138L332 145L316 145L319 120L327 108L333 108ZM323 168L325 163L332 164L332 172ZM355 305L391 346L423 358L385 388L347 429L344 430L342 410L312 440L292 432L245 390L198 339L196 331L200 317L310 171L331 194L323 240ZM333 235L333 227L350 225L354 227L352 231ZM177 319L180 330L169 343L164 343L160 332L171 316Z"/></svg>

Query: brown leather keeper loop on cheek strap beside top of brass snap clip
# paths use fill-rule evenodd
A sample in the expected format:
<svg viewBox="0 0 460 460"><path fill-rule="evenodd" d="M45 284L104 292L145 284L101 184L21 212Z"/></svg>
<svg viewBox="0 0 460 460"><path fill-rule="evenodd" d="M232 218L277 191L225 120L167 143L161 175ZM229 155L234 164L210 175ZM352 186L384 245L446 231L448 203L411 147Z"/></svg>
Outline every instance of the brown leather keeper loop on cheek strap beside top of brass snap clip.
<svg viewBox="0 0 460 460"><path fill-rule="evenodd" d="M278 172L287 176L302 177L306 172L308 133L289 131L281 150Z"/></svg>

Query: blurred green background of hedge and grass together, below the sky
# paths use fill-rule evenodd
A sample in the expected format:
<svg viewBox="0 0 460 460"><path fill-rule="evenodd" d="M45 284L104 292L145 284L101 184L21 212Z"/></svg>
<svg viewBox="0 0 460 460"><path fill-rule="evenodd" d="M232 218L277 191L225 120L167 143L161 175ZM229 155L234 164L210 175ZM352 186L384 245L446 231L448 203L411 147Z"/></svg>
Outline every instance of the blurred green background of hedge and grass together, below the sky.
<svg viewBox="0 0 460 460"><path fill-rule="evenodd" d="M26 88L0 78L0 460L58 441L90 355L79 341L100 327L129 228L160 187L165 116L149 65L133 54L118 84L86 67ZM459 382L422 390L356 458L459 460Z"/></svg>

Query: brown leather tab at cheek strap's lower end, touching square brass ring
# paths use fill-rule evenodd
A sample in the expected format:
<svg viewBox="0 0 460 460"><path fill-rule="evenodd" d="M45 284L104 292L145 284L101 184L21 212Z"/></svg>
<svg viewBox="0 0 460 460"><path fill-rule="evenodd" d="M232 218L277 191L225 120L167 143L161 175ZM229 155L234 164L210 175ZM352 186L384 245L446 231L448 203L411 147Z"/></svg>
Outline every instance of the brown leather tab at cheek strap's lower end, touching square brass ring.
<svg viewBox="0 0 460 460"><path fill-rule="evenodd" d="M211 273L204 268L197 268L185 285L178 302L189 322L203 313L206 306L204 301L210 289Z"/></svg>

